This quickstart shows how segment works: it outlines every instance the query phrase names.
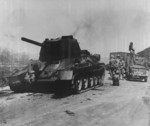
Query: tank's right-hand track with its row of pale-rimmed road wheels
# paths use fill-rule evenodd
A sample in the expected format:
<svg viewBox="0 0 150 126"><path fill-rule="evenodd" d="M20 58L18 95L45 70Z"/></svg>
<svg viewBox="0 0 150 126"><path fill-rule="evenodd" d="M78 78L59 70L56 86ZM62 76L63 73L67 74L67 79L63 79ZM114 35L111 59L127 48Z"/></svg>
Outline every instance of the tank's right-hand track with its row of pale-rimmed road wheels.
<svg viewBox="0 0 150 126"><path fill-rule="evenodd" d="M93 88L103 86L105 78L105 68L100 67L88 74L77 72L72 80L72 89L75 94L80 94Z"/></svg>

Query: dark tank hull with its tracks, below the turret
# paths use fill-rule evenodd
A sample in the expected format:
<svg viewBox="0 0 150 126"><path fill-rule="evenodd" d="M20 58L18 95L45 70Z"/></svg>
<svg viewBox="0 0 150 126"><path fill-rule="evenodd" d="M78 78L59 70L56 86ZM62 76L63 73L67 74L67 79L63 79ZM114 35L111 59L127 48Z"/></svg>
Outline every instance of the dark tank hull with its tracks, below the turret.
<svg viewBox="0 0 150 126"><path fill-rule="evenodd" d="M66 63L64 63L66 61ZM38 66L37 70L32 70L31 64L26 67L26 69L21 70L17 73L13 73L9 77L9 86L11 90L15 92L27 92L31 91L37 84L48 83L49 85L59 82L68 82L69 86L74 93L81 93L85 90L91 89L93 87L102 86L105 76L105 64L97 63L91 66L88 65L78 65L66 67L66 64L71 61L65 60L58 64L46 64L40 63L39 61L32 64L32 67ZM65 64L62 65L62 64ZM44 66L43 66L44 65ZM34 71L34 72L33 72ZM81 88L77 86L76 79L81 81ZM90 85L90 79L93 79ZM85 85L85 81L86 85ZM59 85L57 85L59 86Z"/></svg>

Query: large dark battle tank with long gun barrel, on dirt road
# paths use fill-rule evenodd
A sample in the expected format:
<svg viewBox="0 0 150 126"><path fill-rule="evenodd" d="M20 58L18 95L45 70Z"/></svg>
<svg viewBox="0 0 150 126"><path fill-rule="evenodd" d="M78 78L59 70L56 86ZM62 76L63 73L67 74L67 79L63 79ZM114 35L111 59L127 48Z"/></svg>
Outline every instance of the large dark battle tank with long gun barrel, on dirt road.
<svg viewBox="0 0 150 126"><path fill-rule="evenodd" d="M73 36L45 39L43 43L27 38L22 40L41 47L39 60L31 61L9 77L11 90L25 92L39 82L67 81L75 93L80 93L103 85L105 64L100 63L100 55L81 50Z"/></svg>

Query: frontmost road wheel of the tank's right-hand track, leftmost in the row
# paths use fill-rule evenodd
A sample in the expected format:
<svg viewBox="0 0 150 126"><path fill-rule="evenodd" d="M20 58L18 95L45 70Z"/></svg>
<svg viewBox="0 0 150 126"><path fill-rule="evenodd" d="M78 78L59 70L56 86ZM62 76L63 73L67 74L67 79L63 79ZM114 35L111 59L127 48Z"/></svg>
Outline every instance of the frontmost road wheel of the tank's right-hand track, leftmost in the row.
<svg viewBox="0 0 150 126"><path fill-rule="evenodd" d="M74 78L74 91L75 93L80 93L82 90L83 81L82 78L75 77Z"/></svg>

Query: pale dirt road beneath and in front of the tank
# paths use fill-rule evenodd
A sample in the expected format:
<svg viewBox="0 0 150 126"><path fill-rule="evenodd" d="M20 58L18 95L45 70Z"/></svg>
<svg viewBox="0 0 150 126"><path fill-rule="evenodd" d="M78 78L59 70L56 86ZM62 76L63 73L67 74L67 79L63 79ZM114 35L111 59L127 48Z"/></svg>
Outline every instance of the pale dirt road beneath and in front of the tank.
<svg viewBox="0 0 150 126"><path fill-rule="evenodd" d="M0 91L1 126L150 126L149 82L121 80L71 95Z"/></svg>

